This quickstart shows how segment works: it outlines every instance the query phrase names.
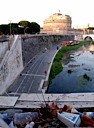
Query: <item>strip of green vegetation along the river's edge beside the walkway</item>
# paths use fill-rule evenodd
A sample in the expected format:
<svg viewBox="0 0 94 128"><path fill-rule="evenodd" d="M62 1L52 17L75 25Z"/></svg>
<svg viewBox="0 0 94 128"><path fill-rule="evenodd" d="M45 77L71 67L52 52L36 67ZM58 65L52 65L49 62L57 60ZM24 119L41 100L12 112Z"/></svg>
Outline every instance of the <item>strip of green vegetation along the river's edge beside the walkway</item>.
<svg viewBox="0 0 94 128"><path fill-rule="evenodd" d="M83 46L85 44L89 44L89 43L91 43L91 42L81 41L79 44L76 44L76 45L64 46L58 51L58 53L56 54L56 56L53 60L53 64L51 67L51 71L50 71L50 75L49 75L49 85L51 84L52 79L54 79L55 76L63 70L63 67L61 64L63 54L68 51L71 51L71 50L76 50L76 49L80 48L81 46Z"/></svg>

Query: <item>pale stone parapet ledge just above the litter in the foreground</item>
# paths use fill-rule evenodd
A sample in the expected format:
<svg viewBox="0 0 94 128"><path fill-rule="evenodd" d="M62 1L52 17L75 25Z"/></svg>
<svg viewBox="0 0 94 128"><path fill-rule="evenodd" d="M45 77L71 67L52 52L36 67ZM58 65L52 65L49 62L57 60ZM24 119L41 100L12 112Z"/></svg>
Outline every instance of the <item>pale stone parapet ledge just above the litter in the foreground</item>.
<svg viewBox="0 0 94 128"><path fill-rule="evenodd" d="M31 93L21 94L20 97L0 97L0 108L41 108L41 105L55 101L57 105L73 105L75 108L94 107L94 93L70 93L70 94L45 94Z"/></svg>

